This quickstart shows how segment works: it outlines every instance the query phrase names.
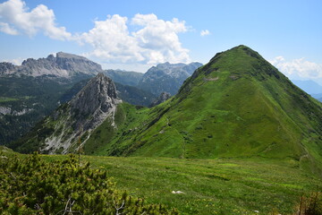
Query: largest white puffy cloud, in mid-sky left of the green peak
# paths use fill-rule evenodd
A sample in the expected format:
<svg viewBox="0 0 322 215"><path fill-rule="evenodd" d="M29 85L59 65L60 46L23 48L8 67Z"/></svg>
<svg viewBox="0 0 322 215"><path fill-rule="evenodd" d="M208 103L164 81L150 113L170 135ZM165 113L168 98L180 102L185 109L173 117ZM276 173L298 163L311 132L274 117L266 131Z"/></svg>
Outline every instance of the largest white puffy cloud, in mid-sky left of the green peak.
<svg viewBox="0 0 322 215"><path fill-rule="evenodd" d="M129 27L136 30L130 31ZM106 21L96 21L92 30L80 35L80 41L94 48L87 56L107 63L188 62L189 50L182 47L178 37L185 31L185 22L175 18L164 21L155 14L136 14L130 22L127 17L114 14L107 16Z"/></svg>

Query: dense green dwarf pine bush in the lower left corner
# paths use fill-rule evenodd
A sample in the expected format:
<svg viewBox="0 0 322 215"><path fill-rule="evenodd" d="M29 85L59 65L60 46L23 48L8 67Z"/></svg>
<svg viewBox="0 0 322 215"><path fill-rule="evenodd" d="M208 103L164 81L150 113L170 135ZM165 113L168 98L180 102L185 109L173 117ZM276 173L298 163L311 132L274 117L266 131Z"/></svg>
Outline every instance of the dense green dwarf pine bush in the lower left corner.
<svg viewBox="0 0 322 215"><path fill-rule="evenodd" d="M51 163L37 153L0 161L1 214L178 214L115 190L106 171L73 155Z"/></svg>

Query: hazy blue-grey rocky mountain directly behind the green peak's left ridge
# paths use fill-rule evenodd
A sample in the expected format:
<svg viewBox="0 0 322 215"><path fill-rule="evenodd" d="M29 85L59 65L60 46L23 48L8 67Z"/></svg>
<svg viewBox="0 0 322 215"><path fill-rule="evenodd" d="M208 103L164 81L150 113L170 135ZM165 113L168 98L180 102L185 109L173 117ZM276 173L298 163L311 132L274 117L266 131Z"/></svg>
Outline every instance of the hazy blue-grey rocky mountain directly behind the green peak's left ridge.
<svg viewBox="0 0 322 215"><path fill-rule="evenodd" d="M169 92L175 95L181 87L184 80L202 64L157 64L148 69L144 73L142 79L138 83L138 87L142 90L147 90L155 95L160 95L162 92Z"/></svg>

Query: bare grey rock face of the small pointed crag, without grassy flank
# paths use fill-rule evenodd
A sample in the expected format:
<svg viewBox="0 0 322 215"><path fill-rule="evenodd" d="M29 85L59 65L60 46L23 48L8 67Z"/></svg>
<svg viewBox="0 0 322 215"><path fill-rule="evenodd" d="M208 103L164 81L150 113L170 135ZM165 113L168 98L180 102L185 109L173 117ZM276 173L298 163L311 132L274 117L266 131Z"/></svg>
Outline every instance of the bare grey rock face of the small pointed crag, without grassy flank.
<svg viewBox="0 0 322 215"><path fill-rule="evenodd" d="M88 84L65 107L59 107L52 116L56 122L55 132L47 137L45 147L48 153L75 150L77 140L86 135L84 144L92 130L107 118L114 124L117 104L122 102L116 97L114 82L103 73L91 79ZM49 122L48 122L49 123Z"/></svg>

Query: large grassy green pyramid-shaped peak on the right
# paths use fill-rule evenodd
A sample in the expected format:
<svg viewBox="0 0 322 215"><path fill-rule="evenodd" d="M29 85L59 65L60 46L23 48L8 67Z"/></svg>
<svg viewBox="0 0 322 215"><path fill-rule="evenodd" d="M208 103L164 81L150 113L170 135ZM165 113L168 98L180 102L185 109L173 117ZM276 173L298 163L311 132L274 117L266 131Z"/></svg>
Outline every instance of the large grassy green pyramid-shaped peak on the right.
<svg viewBox="0 0 322 215"><path fill-rule="evenodd" d="M97 153L259 156L300 159L303 165L322 160L321 104L245 46L216 54L173 99L145 113L146 118L140 111L133 115L133 122L125 120L118 132L122 135L109 137ZM94 140L99 136L89 138Z"/></svg>

